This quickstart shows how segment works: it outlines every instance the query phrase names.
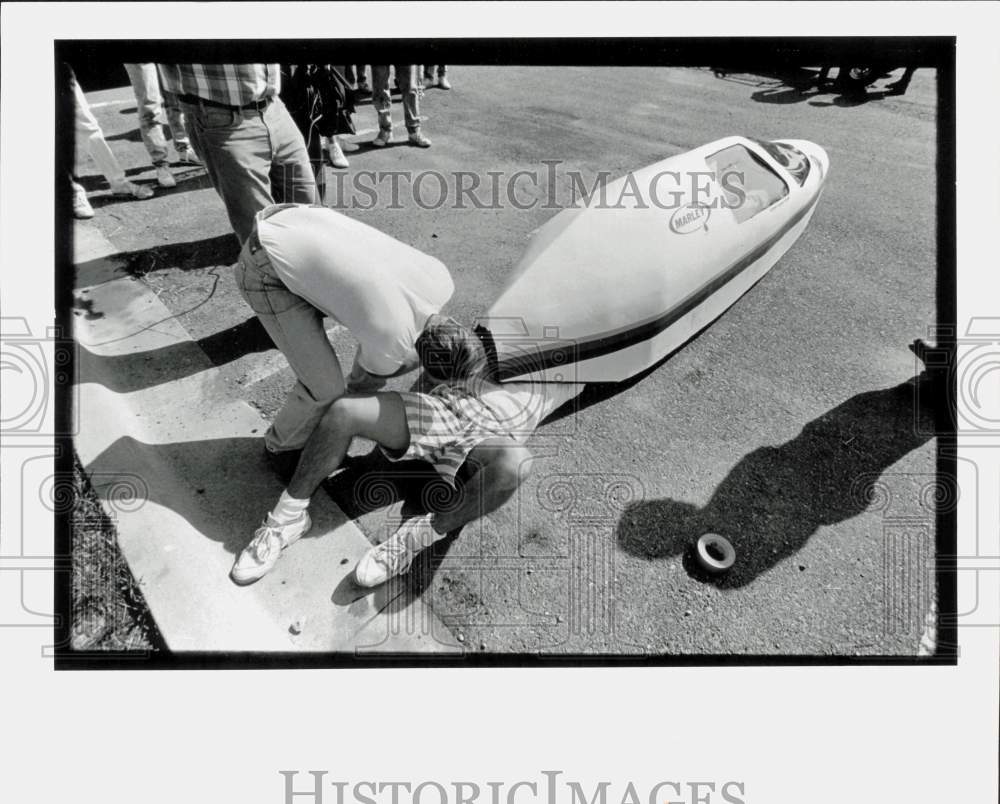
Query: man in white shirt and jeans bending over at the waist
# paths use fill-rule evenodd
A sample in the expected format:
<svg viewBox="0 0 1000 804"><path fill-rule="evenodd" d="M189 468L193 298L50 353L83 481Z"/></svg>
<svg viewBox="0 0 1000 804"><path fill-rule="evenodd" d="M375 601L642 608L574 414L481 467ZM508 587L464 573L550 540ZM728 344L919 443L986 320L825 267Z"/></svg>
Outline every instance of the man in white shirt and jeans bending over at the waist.
<svg viewBox="0 0 1000 804"><path fill-rule="evenodd" d="M236 286L297 382L264 438L265 456L287 482L334 399L374 391L417 365L414 342L451 298L437 259L328 207L277 204L259 212L235 268ZM346 379L324 316L358 341Z"/></svg>

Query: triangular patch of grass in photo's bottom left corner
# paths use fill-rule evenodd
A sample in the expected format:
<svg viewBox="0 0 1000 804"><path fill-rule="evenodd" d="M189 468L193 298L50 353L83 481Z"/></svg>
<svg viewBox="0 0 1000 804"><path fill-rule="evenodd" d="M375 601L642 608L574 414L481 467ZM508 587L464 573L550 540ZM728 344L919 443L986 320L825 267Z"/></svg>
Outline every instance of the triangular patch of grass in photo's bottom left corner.
<svg viewBox="0 0 1000 804"><path fill-rule="evenodd" d="M112 516L74 454L70 647L74 651L165 651L139 583L118 549Z"/></svg>

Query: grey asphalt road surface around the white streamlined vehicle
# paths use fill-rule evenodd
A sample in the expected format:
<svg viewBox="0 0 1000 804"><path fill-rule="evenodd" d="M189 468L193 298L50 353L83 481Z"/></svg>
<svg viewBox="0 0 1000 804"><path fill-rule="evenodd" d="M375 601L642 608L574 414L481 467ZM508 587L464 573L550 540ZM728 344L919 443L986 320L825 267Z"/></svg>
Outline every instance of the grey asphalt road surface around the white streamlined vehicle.
<svg viewBox="0 0 1000 804"><path fill-rule="evenodd" d="M546 200L569 202L573 171L589 184L747 134L812 140L831 172L770 274L653 371L591 387L544 425L518 496L425 554L411 593L468 647L491 652L914 655L934 592L935 440L906 344L936 319L933 71L919 70L902 97L875 90L864 102L797 90L788 76L705 69L456 66L449 77L451 92L422 100L428 150L403 144L398 106L400 144L366 147L375 119L359 108L351 166L328 169L327 202L443 260L456 284L447 312L460 320L487 309L555 214ZM152 182L124 70L122 84L88 97L130 176ZM516 185L514 200L531 209L506 198L521 170L540 177ZM370 204L352 188L377 175L361 171L427 173L423 205L405 177L398 203L384 179ZM439 206L430 171L444 178ZM487 172L499 172L500 203L478 209L467 197L456 208L463 171L482 179L486 200ZM108 197L89 162L80 172L96 208L80 225L122 252L234 395L272 415L292 375L233 285L235 238L204 171L178 168L178 187L144 202ZM627 281L627 266L607 268ZM349 334L331 337L349 361ZM379 469L362 459L329 488L373 540L400 510L381 505ZM406 493L419 480L409 479ZM705 532L737 548L721 579L691 560Z"/></svg>

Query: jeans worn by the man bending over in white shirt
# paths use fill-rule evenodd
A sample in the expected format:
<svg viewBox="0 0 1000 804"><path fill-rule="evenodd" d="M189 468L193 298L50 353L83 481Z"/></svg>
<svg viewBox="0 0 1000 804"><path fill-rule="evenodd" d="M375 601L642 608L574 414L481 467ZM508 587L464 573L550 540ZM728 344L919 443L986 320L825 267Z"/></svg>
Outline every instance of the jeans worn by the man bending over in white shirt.
<svg viewBox="0 0 1000 804"><path fill-rule="evenodd" d="M234 268L236 286L281 350L297 382L267 431L271 452L300 449L330 404L344 393L337 353L323 328L323 314L292 293L274 273L267 254L243 246Z"/></svg>

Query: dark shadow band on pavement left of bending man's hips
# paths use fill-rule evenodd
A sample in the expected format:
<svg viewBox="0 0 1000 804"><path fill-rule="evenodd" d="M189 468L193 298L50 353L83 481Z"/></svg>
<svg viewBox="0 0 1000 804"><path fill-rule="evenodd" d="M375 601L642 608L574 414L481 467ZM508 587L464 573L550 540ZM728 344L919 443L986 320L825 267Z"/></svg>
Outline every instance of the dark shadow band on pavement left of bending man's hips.
<svg viewBox="0 0 1000 804"><path fill-rule="evenodd" d="M77 263L75 286L86 288L122 276L143 276L150 271L194 271L214 265L232 265L239 255L239 241L232 233L204 240L123 251Z"/></svg>

